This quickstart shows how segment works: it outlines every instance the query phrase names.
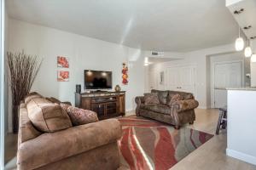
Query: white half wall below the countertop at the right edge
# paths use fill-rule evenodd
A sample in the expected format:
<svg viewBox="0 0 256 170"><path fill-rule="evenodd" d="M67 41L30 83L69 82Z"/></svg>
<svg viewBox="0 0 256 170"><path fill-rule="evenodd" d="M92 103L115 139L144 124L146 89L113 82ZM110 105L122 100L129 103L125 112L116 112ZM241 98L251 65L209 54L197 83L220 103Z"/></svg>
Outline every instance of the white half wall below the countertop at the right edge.
<svg viewBox="0 0 256 170"><path fill-rule="evenodd" d="M228 91L227 155L256 165L254 90Z"/></svg>

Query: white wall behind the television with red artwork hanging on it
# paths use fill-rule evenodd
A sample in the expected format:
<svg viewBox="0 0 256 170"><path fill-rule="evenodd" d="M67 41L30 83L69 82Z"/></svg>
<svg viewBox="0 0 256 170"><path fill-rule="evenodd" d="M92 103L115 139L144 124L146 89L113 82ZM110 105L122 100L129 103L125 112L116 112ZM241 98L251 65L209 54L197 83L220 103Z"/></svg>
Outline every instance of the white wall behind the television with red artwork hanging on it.
<svg viewBox="0 0 256 170"><path fill-rule="evenodd" d="M103 42L44 26L9 20L9 50L44 57L32 91L74 103L75 85L84 88L84 70L113 71L113 88L121 85L122 63L129 65L129 84L126 91L126 111L135 109L134 99L144 92L143 51L119 44ZM70 81L57 82L56 57L70 59Z"/></svg>

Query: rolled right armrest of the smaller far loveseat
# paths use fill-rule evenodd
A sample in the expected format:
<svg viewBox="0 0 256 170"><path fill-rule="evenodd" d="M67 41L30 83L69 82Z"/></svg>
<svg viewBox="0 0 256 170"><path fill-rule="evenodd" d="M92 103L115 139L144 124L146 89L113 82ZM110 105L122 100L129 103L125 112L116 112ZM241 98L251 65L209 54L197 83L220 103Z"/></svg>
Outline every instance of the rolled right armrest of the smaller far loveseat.
<svg viewBox="0 0 256 170"><path fill-rule="evenodd" d="M185 99L176 101L172 104L172 107L177 109L177 112L189 111L198 107L199 103L195 99Z"/></svg>

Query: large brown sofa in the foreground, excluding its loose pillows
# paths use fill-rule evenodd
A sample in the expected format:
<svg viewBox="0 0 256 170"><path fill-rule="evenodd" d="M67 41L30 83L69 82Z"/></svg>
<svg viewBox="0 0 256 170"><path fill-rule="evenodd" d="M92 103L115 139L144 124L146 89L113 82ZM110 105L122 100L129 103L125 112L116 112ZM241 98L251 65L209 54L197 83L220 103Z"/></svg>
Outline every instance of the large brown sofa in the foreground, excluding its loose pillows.
<svg viewBox="0 0 256 170"><path fill-rule="evenodd" d="M43 97L37 99L38 105L44 105L44 102ZM119 167L117 140L121 137L121 127L118 120L108 119L76 127L71 124L65 130L42 133L29 118L29 114L38 109L37 105L25 103L20 104L18 170Z"/></svg>

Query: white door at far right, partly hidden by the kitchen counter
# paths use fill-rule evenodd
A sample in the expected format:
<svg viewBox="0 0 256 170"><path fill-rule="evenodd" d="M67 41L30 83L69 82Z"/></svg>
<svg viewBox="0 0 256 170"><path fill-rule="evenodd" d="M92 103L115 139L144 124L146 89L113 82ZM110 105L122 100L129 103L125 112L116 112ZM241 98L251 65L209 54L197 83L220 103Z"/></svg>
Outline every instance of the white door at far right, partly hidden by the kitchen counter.
<svg viewBox="0 0 256 170"><path fill-rule="evenodd" d="M241 62L219 63L214 65L214 107L227 105L226 88L241 87Z"/></svg>

